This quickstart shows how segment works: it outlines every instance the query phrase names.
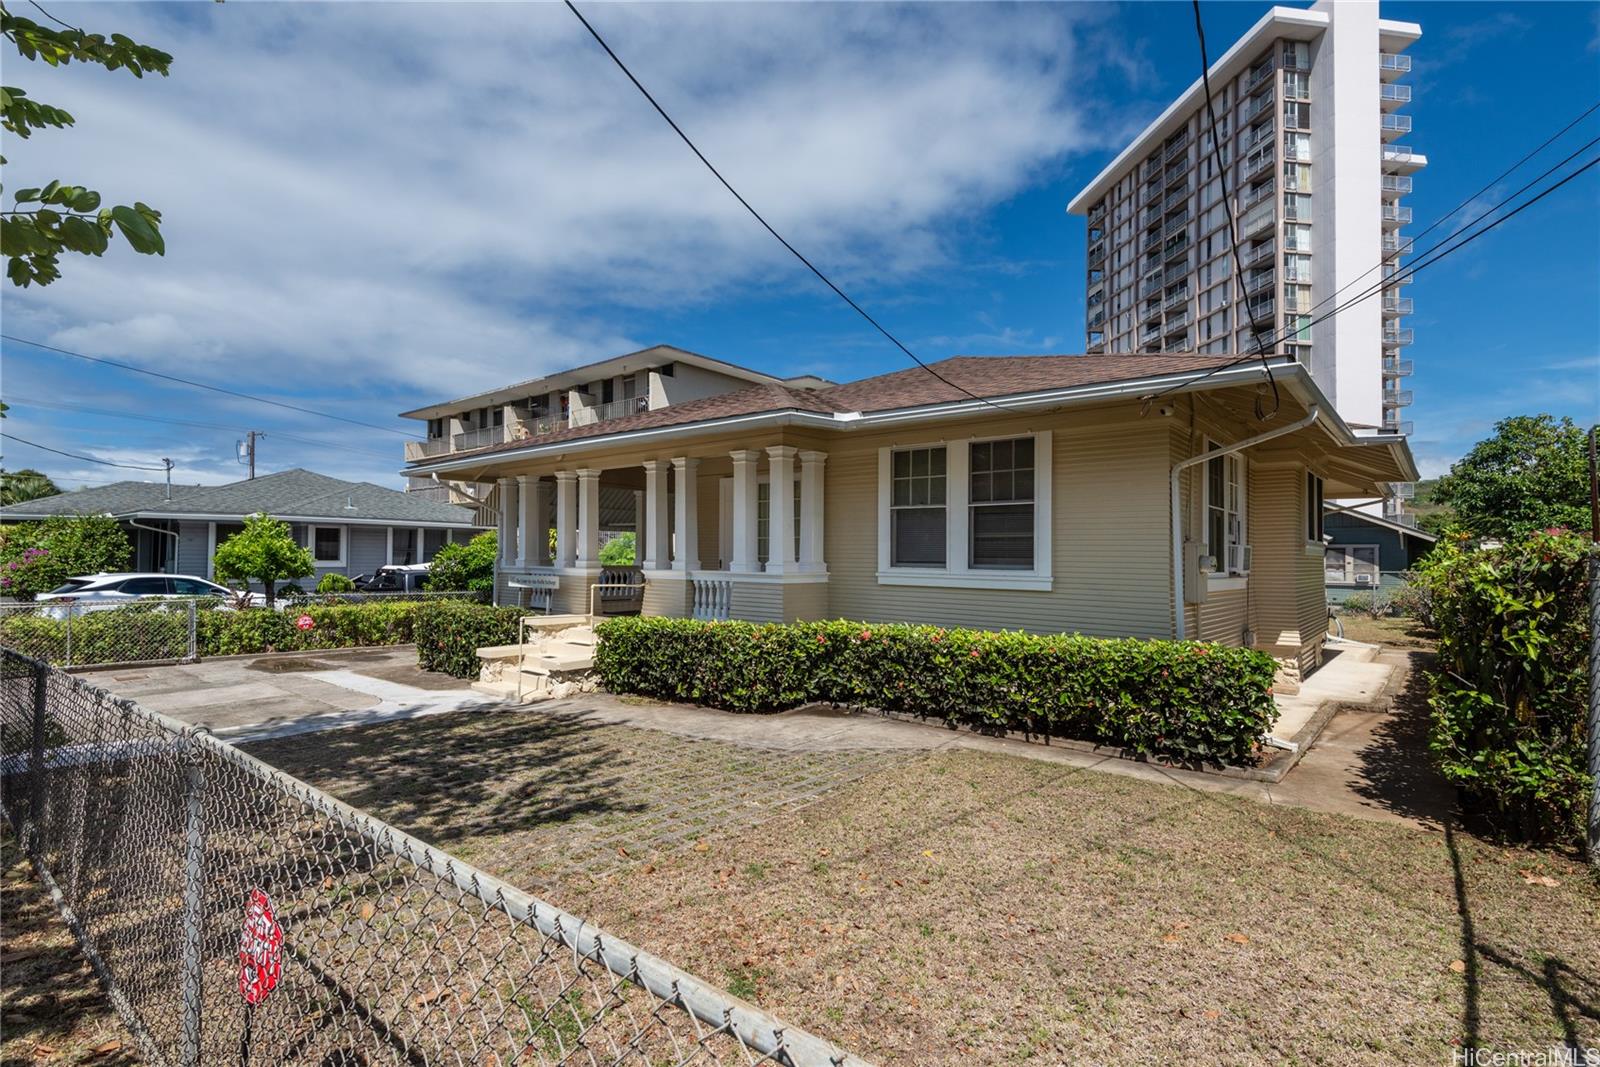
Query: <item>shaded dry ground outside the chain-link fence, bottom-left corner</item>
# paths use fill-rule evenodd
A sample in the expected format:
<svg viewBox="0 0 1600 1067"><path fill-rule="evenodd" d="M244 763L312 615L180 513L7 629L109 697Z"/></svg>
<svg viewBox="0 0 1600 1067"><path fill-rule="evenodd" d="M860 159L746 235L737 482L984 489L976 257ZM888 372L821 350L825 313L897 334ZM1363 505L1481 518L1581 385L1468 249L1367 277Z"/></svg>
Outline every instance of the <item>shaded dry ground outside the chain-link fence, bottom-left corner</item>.
<svg viewBox="0 0 1600 1067"><path fill-rule="evenodd" d="M0 838L0 1064L142 1062L10 833Z"/></svg>

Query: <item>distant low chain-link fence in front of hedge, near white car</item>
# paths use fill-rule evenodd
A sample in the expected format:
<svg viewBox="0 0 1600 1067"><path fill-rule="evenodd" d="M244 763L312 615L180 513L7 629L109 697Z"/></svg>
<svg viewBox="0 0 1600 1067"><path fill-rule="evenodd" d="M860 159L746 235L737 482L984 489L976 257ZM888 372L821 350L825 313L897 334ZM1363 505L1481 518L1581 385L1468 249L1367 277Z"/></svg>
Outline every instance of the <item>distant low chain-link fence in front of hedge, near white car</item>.
<svg viewBox="0 0 1600 1067"><path fill-rule="evenodd" d="M131 605L67 600L0 605L0 645L56 667L194 661L197 617L216 598Z"/></svg>

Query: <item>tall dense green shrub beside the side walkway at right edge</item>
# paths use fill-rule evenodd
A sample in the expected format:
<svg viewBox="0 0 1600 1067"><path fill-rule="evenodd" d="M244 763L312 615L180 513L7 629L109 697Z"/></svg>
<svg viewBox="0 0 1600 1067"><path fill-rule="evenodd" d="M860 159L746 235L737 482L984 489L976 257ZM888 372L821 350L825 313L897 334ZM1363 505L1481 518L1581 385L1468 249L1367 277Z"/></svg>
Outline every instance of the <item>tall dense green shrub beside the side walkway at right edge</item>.
<svg viewBox="0 0 1600 1067"><path fill-rule="evenodd" d="M1429 747L1474 806L1528 840L1582 833L1589 550L1568 531L1442 541L1418 568L1438 630Z"/></svg>

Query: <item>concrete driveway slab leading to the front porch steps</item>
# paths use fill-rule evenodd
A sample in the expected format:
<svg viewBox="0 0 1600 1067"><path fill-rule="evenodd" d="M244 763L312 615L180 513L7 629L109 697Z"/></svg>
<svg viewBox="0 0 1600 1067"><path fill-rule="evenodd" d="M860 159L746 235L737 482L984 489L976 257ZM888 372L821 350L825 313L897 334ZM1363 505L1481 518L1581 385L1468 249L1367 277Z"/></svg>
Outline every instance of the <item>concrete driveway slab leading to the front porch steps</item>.
<svg viewBox="0 0 1600 1067"><path fill-rule="evenodd" d="M85 678L230 741L494 705L459 678L418 669L414 645L230 656Z"/></svg>

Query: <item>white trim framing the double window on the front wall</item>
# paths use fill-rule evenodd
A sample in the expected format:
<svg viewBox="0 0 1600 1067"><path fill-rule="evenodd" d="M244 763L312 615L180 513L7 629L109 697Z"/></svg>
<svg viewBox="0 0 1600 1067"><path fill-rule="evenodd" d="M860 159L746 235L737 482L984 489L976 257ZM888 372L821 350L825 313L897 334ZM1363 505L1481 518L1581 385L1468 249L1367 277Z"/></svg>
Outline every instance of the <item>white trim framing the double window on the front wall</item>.
<svg viewBox="0 0 1600 1067"><path fill-rule="evenodd" d="M970 446L978 442L1005 442L1018 437L1034 438L1034 568L1011 571L998 568L974 568L968 565L971 530L968 499L971 493ZM946 566L894 566L890 547L890 501L893 496L894 453L907 448L944 448L944 509ZM960 589L1018 589L1048 592L1053 589L1051 566L1051 518L1053 509L1053 451L1051 432L1034 434L986 434L974 437L896 442L878 450L878 584L880 585L938 585Z"/></svg>

